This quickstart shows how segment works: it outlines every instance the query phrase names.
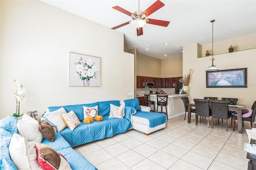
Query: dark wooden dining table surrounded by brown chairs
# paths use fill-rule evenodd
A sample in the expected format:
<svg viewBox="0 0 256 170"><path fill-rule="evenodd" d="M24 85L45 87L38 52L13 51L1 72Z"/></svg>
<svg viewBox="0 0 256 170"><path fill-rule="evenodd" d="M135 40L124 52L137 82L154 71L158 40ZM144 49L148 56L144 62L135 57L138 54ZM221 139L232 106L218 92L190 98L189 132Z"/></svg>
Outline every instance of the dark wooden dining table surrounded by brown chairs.
<svg viewBox="0 0 256 170"><path fill-rule="evenodd" d="M188 123L191 121L191 107L195 107L194 102L187 103L188 106ZM228 105L228 111L235 111L237 114L238 133L242 133L242 110L244 105Z"/></svg>

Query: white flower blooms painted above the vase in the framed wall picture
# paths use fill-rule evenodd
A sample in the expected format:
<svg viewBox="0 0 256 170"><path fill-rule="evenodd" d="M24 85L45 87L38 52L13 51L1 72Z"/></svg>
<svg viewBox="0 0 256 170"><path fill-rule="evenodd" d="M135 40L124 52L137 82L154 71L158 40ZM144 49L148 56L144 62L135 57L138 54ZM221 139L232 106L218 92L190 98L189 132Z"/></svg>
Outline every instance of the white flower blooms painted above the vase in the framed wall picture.
<svg viewBox="0 0 256 170"><path fill-rule="evenodd" d="M82 57L78 60L76 64L76 73L80 76L82 81L90 80L96 78L98 73L98 67L95 65L91 59L87 61L82 61Z"/></svg>

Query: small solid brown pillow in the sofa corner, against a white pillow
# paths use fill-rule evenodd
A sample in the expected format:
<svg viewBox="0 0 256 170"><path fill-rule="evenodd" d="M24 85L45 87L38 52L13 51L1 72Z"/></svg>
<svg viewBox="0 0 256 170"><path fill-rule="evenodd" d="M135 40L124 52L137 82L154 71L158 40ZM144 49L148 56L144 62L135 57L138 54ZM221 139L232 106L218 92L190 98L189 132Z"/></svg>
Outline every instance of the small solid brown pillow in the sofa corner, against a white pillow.
<svg viewBox="0 0 256 170"><path fill-rule="evenodd" d="M54 142L55 140L55 131L52 125L50 125L47 121L41 121L41 125L39 126L41 133L44 137L50 142Z"/></svg>

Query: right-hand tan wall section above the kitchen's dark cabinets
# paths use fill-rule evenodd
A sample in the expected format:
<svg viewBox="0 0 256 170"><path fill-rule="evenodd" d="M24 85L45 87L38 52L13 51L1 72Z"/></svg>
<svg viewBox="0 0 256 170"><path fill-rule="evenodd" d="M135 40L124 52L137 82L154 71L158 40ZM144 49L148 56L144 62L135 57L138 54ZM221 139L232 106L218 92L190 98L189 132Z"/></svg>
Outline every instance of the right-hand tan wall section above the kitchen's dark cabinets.
<svg viewBox="0 0 256 170"><path fill-rule="evenodd" d="M161 77L182 77L182 56L161 60Z"/></svg>

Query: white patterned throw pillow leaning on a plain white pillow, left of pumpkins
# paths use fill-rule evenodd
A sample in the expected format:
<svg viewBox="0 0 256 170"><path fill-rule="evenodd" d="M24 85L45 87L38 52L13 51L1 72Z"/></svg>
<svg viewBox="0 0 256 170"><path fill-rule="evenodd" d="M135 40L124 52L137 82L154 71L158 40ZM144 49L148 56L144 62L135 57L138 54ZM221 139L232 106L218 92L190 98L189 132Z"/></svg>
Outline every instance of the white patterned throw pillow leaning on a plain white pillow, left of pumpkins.
<svg viewBox="0 0 256 170"><path fill-rule="evenodd" d="M78 117L73 111L62 114L62 119L71 131L73 131L74 128L81 124L81 122L78 120Z"/></svg>

